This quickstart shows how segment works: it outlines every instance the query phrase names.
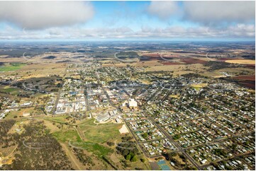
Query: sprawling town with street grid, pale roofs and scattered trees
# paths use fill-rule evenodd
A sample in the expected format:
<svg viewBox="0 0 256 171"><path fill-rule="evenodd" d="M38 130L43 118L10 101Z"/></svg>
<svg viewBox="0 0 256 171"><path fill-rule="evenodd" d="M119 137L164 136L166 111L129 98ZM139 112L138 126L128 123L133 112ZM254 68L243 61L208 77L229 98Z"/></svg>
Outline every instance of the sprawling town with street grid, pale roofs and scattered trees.
<svg viewBox="0 0 256 171"><path fill-rule="evenodd" d="M145 158L158 160L162 170L179 170L182 163L198 170L255 168L254 90L209 76L146 72L95 59L62 69L62 76L50 75L53 83L2 75L1 121L69 116L74 123L123 124Z"/></svg>

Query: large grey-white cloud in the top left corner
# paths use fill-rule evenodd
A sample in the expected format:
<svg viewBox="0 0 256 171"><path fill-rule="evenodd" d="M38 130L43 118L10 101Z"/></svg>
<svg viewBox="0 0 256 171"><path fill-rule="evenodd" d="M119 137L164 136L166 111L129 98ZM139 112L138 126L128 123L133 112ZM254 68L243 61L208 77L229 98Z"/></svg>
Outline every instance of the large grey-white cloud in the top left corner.
<svg viewBox="0 0 256 171"><path fill-rule="evenodd" d="M26 29L84 23L93 15L88 1L0 1L0 22Z"/></svg>

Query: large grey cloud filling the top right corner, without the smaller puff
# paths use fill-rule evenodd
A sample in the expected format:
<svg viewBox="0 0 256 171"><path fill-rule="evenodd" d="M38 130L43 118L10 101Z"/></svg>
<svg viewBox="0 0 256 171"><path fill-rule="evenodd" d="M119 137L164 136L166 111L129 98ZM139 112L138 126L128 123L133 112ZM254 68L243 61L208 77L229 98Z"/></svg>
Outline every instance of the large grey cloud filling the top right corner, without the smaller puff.
<svg viewBox="0 0 256 171"><path fill-rule="evenodd" d="M209 25L255 21L255 1L184 1L184 19Z"/></svg>

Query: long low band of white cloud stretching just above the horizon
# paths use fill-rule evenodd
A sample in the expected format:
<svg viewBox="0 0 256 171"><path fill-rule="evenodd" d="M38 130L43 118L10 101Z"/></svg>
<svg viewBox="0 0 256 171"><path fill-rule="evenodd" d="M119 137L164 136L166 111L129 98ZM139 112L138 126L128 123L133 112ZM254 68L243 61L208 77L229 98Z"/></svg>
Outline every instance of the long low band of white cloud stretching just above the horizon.
<svg viewBox="0 0 256 171"><path fill-rule="evenodd" d="M184 28L172 26L167 28L142 27L132 30L128 27L119 28L48 28L41 30L17 30L6 27L0 32L0 39L120 39L120 38L255 38L255 25L237 24L226 28L208 26Z"/></svg>

